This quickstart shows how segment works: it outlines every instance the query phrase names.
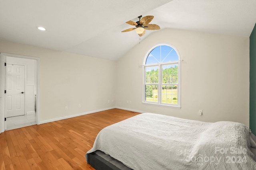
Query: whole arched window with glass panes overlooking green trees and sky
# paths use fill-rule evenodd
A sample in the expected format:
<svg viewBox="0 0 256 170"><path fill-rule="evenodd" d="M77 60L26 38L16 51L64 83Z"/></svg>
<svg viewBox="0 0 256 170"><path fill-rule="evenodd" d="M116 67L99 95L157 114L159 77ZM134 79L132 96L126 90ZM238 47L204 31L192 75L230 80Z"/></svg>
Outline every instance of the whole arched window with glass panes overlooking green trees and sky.
<svg viewBox="0 0 256 170"><path fill-rule="evenodd" d="M180 107L180 56L170 45L158 45L143 64L143 102Z"/></svg>

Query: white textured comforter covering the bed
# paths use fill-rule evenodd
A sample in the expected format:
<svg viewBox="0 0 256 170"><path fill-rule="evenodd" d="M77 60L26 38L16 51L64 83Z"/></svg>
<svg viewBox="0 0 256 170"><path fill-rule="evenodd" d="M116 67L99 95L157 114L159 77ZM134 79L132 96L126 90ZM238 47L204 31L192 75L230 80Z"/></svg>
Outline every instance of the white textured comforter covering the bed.
<svg viewBox="0 0 256 170"><path fill-rule="evenodd" d="M256 170L249 128L229 121L142 113L102 129L95 150L134 170Z"/></svg>

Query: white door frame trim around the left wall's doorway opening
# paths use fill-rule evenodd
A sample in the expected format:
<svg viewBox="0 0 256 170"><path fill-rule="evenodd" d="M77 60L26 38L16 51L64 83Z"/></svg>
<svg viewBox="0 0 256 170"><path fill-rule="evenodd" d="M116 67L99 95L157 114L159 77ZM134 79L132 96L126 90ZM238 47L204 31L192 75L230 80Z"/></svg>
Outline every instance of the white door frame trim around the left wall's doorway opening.
<svg viewBox="0 0 256 170"><path fill-rule="evenodd" d="M5 115L4 115L4 88L5 88L5 75L6 70L4 63L6 63L6 57L16 57L22 59L32 59L36 60L36 124L40 122L40 73L39 73L39 66L40 66L40 58L38 57L30 57L24 55L15 55L9 53L0 53L0 133L4 132L5 130Z"/></svg>

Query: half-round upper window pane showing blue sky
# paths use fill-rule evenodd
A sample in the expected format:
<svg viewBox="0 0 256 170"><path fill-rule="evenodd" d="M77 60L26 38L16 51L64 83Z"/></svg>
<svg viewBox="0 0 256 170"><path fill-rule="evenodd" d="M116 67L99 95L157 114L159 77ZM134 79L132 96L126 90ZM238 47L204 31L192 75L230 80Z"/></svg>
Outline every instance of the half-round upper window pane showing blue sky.
<svg viewBox="0 0 256 170"><path fill-rule="evenodd" d="M145 64L157 64L172 61L180 61L177 51L170 45L158 45L148 53Z"/></svg>

